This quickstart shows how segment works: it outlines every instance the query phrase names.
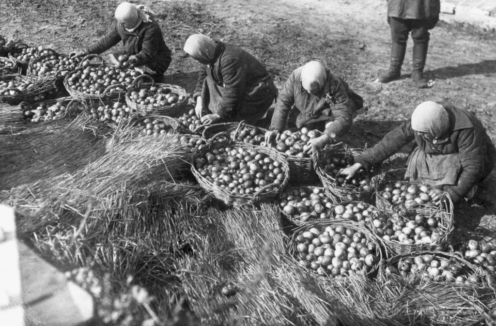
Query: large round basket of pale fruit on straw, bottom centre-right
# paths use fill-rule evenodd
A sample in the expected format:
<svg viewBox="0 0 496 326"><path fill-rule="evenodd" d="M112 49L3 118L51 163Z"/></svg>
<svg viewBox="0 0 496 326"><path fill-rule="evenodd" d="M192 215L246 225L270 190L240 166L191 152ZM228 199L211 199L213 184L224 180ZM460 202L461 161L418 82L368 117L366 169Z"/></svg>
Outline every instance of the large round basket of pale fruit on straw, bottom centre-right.
<svg viewBox="0 0 496 326"><path fill-rule="evenodd" d="M317 234L324 234L324 232L329 232L330 230L332 230L331 233L326 234L330 239L323 239L322 237L317 236ZM325 278L335 279L346 277L351 273L361 273L373 276L379 269L379 263L383 257L381 241L375 237L370 230L358 223L347 220L326 219L301 225L293 231L294 233L290 238L288 249L291 256L293 256L299 262L300 266L306 270L315 272ZM362 251L360 248L358 250L359 253L355 252L354 256L350 255L351 253L348 249L353 247L345 244L345 241L348 242L347 240L342 241L345 239L344 235L350 240L355 237L365 238L366 243L360 242L360 247L366 249ZM319 240L314 242L314 239L316 238ZM305 247L305 245L299 245L302 240L304 243L308 243L306 245L307 247ZM330 245L329 250L317 249L326 248L328 245ZM311 250L310 246L313 246ZM336 248L341 248L341 250L344 251L344 257L341 255L342 253L338 254L338 257L334 256L337 251ZM310 253L309 250L312 253ZM324 256L328 256L332 259L330 264L329 258L324 262ZM334 261L335 258L337 258L337 261ZM344 261L348 261L349 263L344 263Z"/></svg>

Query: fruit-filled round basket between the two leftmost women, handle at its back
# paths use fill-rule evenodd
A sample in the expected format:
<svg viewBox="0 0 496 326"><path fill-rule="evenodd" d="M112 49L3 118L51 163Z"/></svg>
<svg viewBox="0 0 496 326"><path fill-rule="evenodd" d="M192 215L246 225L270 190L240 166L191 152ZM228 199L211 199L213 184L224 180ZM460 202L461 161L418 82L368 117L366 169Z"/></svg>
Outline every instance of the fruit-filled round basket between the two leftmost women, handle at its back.
<svg viewBox="0 0 496 326"><path fill-rule="evenodd" d="M140 83L148 79L145 86ZM149 85L151 83L151 86ZM125 95L126 103L138 114L159 114L179 118L187 105L186 90L177 85L155 83L149 75L141 75L133 81Z"/></svg>

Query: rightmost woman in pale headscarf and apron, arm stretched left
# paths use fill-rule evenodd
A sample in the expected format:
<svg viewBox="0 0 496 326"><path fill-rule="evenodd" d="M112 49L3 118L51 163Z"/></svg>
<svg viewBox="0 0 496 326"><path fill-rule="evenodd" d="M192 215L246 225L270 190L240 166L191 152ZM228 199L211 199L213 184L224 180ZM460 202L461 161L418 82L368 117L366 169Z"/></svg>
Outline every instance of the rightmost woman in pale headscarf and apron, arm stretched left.
<svg viewBox="0 0 496 326"><path fill-rule="evenodd" d="M361 168L370 170L412 140L415 144L405 179L432 184L447 192L453 202L470 199L495 166L496 148L473 113L427 101L341 173L351 178Z"/></svg>

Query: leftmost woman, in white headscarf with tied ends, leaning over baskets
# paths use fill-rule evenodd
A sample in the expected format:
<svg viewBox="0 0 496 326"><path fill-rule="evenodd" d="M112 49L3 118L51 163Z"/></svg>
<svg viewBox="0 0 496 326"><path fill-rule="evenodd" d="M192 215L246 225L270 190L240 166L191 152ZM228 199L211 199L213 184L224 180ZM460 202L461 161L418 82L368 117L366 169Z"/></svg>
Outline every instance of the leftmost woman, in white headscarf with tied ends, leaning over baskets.
<svg viewBox="0 0 496 326"><path fill-rule="evenodd" d="M128 63L134 64L156 79L160 79L171 63L171 50L167 47L158 24L150 18L153 14L144 5L122 2L116 8L115 23L112 30L97 42L84 50L73 51L71 56L101 54L121 40L124 51L109 55L112 63L116 64L121 55L128 56Z"/></svg>

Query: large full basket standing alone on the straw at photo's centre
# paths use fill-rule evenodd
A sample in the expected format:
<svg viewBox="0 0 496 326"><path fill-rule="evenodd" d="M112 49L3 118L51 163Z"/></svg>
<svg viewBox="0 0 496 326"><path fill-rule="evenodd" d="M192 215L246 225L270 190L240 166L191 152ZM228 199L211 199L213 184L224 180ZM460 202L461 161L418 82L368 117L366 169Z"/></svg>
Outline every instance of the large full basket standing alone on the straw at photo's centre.
<svg viewBox="0 0 496 326"><path fill-rule="evenodd" d="M207 143L193 155L191 171L207 193L234 206L273 200L289 179L283 154L234 141Z"/></svg>

